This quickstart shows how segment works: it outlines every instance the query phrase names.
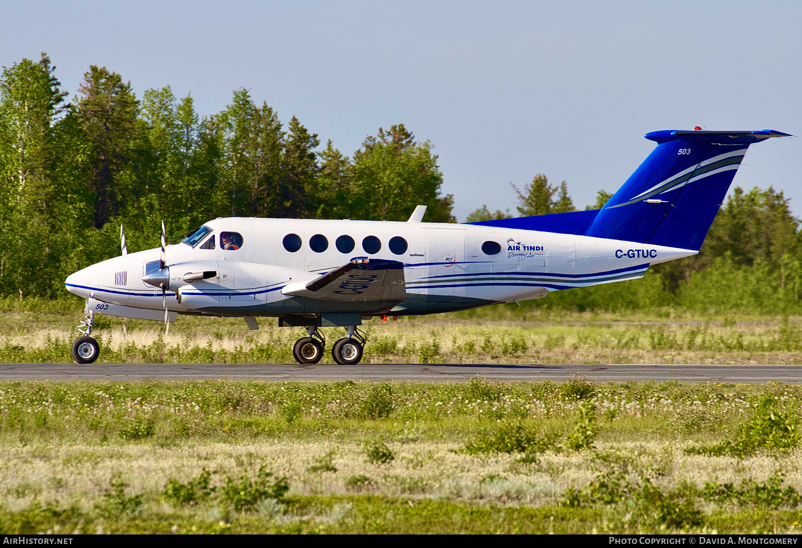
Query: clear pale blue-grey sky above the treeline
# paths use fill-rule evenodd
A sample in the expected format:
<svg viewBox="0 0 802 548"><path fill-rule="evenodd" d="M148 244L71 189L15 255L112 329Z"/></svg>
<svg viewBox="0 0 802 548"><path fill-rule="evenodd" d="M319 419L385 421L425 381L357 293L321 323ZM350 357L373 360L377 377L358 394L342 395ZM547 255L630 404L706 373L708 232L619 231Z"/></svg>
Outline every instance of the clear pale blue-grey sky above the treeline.
<svg viewBox="0 0 802 548"><path fill-rule="evenodd" d="M615 191L662 129L802 135L802 2L6 2L0 65L47 52L75 94L90 65L191 94L249 90L353 155L379 127L430 141L464 220L515 212L510 183ZM802 139L750 147L733 186L802 216Z"/></svg>

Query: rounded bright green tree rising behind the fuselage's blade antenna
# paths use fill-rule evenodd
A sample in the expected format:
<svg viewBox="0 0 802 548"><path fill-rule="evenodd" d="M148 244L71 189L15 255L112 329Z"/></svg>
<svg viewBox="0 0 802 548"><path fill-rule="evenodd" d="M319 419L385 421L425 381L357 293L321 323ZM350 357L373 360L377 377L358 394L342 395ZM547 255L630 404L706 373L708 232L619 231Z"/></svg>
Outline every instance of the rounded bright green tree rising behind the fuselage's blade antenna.
<svg viewBox="0 0 802 548"><path fill-rule="evenodd" d="M407 220L418 204L427 220L452 222L452 195L442 195L443 174L431 143L416 143L403 124L369 135L354 153L353 216L365 220Z"/></svg>

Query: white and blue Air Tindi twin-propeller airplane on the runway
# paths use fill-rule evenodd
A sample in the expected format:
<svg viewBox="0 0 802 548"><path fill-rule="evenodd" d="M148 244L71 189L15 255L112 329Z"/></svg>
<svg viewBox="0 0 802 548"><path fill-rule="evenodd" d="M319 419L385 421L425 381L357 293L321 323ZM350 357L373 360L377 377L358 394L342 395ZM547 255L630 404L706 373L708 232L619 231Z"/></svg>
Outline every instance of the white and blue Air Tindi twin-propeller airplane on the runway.
<svg viewBox="0 0 802 548"><path fill-rule="evenodd" d="M72 357L99 357L96 312L164 320L176 316L257 316L306 328L298 363L321 360L321 328L345 328L334 361L354 365L366 343L359 329L376 316L453 312L520 302L549 292L641 278L653 264L699 252L735 172L753 143L787 133L653 131L657 143L601 209L464 224L363 220L210 220L178 244L128 253L65 280L86 299Z"/></svg>

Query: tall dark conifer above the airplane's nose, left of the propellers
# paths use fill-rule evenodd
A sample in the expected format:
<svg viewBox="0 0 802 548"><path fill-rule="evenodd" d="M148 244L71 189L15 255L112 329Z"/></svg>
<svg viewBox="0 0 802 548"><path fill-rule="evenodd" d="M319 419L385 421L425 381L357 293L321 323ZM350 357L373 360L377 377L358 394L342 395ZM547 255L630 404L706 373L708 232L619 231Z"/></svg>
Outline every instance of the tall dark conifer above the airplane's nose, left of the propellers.
<svg viewBox="0 0 802 548"><path fill-rule="evenodd" d="M135 189L124 189L122 175L132 159L132 142L141 125L139 102L115 72L92 65L78 87L78 115L89 143L87 170L95 205L95 228L116 216ZM133 190L133 191L128 191Z"/></svg>

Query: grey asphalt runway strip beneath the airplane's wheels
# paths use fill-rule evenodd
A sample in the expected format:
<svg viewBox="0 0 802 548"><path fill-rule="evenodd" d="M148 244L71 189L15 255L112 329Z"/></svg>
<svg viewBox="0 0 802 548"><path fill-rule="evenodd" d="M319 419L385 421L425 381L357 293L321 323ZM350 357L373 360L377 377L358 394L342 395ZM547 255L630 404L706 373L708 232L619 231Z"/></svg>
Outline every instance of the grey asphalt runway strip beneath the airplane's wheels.
<svg viewBox="0 0 802 548"><path fill-rule="evenodd" d="M0 381L684 381L802 383L802 365L2 364Z"/></svg>

